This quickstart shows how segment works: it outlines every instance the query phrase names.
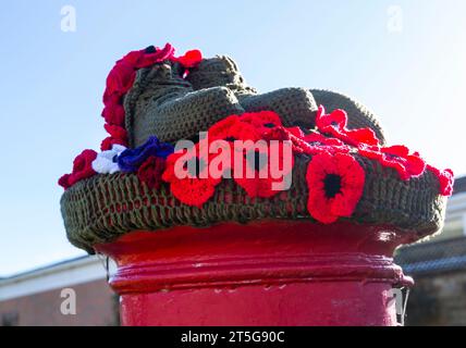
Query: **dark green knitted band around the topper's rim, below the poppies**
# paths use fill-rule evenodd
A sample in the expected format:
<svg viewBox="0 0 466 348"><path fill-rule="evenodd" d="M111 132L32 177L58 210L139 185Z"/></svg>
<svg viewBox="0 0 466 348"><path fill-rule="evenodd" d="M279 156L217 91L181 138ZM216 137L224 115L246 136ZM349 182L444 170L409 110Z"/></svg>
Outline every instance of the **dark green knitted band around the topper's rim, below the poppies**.
<svg viewBox="0 0 466 348"><path fill-rule="evenodd" d="M442 226L446 198L439 196L432 173L426 171L419 178L403 182L393 169L359 154L355 158L366 172L364 194L353 216L342 220L415 229L419 238ZM167 184L151 190L134 174L96 175L68 189L61 199L68 237L76 247L93 252L95 244L135 229L260 219L314 221L307 211L308 162L308 157L296 157L292 187L284 198L250 198L234 181L223 179L203 209L181 203Z"/></svg>

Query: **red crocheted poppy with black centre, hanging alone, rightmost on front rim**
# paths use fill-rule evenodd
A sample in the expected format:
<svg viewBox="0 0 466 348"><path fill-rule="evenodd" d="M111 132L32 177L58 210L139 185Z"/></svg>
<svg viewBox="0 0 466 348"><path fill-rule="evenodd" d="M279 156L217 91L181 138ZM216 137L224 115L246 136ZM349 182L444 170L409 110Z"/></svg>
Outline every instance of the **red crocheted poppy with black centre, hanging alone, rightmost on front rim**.
<svg viewBox="0 0 466 348"><path fill-rule="evenodd" d="M353 214L363 196L365 172L351 154L322 152L312 157L306 181L310 215L330 224Z"/></svg>

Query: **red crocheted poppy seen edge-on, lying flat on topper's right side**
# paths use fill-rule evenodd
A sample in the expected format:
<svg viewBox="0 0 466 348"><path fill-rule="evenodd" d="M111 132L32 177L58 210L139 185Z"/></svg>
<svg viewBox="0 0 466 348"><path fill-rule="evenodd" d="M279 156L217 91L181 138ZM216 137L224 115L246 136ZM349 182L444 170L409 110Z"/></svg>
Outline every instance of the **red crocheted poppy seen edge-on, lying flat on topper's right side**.
<svg viewBox="0 0 466 348"><path fill-rule="evenodd" d="M383 166L395 169L403 181L417 177L426 170L426 162L419 157L419 153L409 153L409 149L402 145L387 148L359 146L358 152L364 157L377 160Z"/></svg>

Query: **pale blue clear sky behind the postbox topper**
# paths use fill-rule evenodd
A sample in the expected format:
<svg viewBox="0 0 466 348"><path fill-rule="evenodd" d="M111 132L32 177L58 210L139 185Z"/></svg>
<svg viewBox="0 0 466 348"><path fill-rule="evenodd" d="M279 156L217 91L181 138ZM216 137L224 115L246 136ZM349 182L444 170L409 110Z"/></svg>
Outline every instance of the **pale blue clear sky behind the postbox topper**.
<svg viewBox="0 0 466 348"><path fill-rule="evenodd" d="M61 30L66 4L75 33ZM398 10L402 29L390 29ZM0 276L83 253L65 238L57 178L105 137L113 62L152 44L229 54L261 91L343 91L380 116L389 142L466 174L465 13L463 0L3 3Z"/></svg>

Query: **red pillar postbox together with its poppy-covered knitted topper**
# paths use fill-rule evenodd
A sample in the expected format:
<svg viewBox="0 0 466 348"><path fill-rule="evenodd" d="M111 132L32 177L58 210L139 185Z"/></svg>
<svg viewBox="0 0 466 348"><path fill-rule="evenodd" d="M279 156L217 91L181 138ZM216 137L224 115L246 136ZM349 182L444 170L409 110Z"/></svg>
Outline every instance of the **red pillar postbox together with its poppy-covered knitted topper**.
<svg viewBox="0 0 466 348"><path fill-rule="evenodd" d="M260 95L230 58L169 44L119 60L103 102L110 136L60 178L61 207L75 246L116 261L124 325L397 323L392 289L413 279L393 252L442 226L451 171L341 94Z"/></svg>

